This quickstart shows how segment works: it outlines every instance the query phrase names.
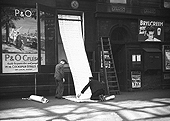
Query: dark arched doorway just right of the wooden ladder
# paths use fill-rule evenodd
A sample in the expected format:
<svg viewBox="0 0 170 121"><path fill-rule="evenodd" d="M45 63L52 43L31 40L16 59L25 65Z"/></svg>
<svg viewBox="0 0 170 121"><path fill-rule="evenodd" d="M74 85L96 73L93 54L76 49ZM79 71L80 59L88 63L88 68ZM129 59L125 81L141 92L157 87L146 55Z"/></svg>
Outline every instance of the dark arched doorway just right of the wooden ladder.
<svg viewBox="0 0 170 121"><path fill-rule="evenodd" d="M114 27L110 34L110 40L112 45L112 53L115 61L116 71L118 75L118 81L120 90L127 90L127 78L126 78L126 48L125 43L131 40L131 36L125 27Z"/></svg>

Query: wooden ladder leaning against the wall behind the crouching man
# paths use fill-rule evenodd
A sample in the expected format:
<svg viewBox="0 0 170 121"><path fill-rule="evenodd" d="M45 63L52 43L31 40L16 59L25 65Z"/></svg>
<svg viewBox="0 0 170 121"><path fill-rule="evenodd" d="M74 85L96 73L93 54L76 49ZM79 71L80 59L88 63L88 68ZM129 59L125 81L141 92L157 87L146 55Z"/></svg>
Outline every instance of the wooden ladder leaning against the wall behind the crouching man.
<svg viewBox="0 0 170 121"><path fill-rule="evenodd" d="M102 67L108 95L120 94L119 82L109 37L101 37Z"/></svg>

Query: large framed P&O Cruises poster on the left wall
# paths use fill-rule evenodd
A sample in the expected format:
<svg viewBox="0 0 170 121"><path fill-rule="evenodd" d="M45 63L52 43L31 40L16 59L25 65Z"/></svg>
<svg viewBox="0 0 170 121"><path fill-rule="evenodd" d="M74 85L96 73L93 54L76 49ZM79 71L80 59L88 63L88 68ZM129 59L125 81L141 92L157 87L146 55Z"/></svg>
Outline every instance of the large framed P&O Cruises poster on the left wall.
<svg viewBox="0 0 170 121"><path fill-rule="evenodd" d="M37 21L34 8L4 7L2 13L2 72L38 72ZM42 63L45 55L42 54Z"/></svg>

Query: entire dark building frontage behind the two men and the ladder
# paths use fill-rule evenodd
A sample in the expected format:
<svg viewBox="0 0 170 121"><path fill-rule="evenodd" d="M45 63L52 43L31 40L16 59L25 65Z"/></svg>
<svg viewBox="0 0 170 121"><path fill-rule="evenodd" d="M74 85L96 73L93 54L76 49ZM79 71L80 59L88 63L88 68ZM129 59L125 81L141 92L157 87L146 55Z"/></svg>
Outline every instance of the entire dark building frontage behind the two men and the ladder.
<svg viewBox="0 0 170 121"><path fill-rule="evenodd" d="M101 70L101 50L97 43L100 37L108 36L121 91L169 87L169 8L165 9L163 2L154 3L152 0L147 7L145 5L148 3L135 0L120 0L122 3L115 1L2 0L0 97L35 93L54 95L54 66L66 58L58 33L58 20L70 15L71 19L74 15L78 16L76 21L82 22L85 49L94 74ZM158 7L160 4L162 9ZM4 22L5 15L8 15L5 10L9 15L12 14L8 17L13 22ZM140 21L156 22L156 29L159 32L161 30L158 37L161 41L145 42L146 36L139 34L145 30ZM17 41L18 44L13 41L17 31L23 40ZM69 67L66 67L66 71L64 94L74 94Z"/></svg>

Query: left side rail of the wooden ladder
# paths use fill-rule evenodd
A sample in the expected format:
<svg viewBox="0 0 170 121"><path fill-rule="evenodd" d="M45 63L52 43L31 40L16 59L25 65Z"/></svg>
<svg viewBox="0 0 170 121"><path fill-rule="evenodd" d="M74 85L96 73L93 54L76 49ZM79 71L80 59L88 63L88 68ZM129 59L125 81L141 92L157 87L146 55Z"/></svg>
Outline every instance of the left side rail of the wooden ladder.
<svg viewBox="0 0 170 121"><path fill-rule="evenodd" d="M106 65L105 65L105 57L104 57L104 45L103 45L103 38L101 37L101 47L102 47L102 59L103 59L103 70L104 70L104 78L105 78L105 83L107 86L107 93L110 95L109 92L109 85L108 85L108 79L107 79L107 71L106 71Z"/></svg>

